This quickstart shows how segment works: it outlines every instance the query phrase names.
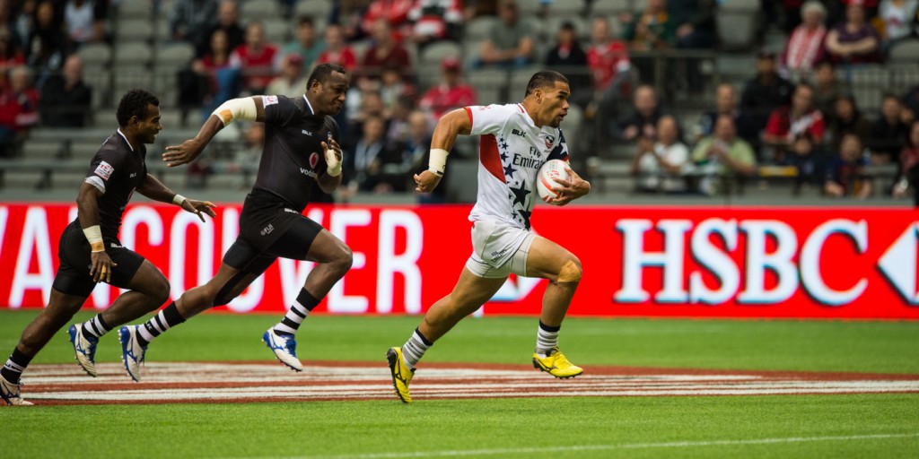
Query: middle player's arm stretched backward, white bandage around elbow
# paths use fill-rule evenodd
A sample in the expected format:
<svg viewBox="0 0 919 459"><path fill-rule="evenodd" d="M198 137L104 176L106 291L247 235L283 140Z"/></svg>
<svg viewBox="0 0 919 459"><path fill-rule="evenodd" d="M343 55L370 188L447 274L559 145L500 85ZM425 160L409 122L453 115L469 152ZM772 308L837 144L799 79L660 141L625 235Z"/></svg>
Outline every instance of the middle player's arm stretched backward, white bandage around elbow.
<svg viewBox="0 0 919 459"><path fill-rule="evenodd" d="M163 153L163 161L166 162L168 167L176 167L195 161L195 158L198 158L201 151L204 151L204 147L210 143L210 140L221 129L237 119L264 121L265 106L262 105L262 96L241 97L224 102L210 114L210 117L201 126L198 135L194 139L186 140L181 145L166 147L166 151Z"/></svg>

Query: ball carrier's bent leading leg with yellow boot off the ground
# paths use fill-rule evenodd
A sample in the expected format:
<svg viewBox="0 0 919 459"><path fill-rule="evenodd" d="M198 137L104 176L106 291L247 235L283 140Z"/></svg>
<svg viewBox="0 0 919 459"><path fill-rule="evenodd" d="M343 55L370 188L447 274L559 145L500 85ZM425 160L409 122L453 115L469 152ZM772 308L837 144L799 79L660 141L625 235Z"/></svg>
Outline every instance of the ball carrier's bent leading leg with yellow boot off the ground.
<svg viewBox="0 0 919 459"><path fill-rule="evenodd" d="M574 290L581 281L581 261L562 246L537 236L529 248L527 275L549 279L542 297L533 366L560 378L584 373L559 351L559 330Z"/></svg>

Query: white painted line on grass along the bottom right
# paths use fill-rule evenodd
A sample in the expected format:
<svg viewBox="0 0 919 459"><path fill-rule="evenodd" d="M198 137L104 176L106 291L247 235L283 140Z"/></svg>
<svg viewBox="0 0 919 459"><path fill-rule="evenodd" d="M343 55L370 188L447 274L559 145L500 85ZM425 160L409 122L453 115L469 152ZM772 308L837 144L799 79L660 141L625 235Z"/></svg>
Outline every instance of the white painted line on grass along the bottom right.
<svg viewBox="0 0 919 459"><path fill-rule="evenodd" d="M289 459L393 459L400 457L460 457L509 454L548 454L577 453L588 451L611 450L645 450L653 448L697 448L706 446L736 446L754 444L802 443L802 442L851 442L857 440L890 440L902 438L919 438L919 433L879 433L874 435L839 435L827 437L786 437L763 438L750 440L710 440L704 442L659 442L659 443L621 443L621 444L586 444L570 446L552 446L545 448L494 448L482 450L447 450L418 451L414 453L368 453L344 454L332 456L290 456ZM249 458L257 459L257 458Z"/></svg>

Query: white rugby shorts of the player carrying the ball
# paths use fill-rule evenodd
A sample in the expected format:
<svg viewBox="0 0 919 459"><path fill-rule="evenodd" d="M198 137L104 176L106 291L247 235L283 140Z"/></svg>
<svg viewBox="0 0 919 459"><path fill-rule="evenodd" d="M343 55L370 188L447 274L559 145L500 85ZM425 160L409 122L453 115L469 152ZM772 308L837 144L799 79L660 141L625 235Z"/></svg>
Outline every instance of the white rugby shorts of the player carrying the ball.
<svg viewBox="0 0 919 459"><path fill-rule="evenodd" d="M472 224L472 255L466 269L486 279L504 278L511 273L527 275L529 246L536 235L527 229L494 220Z"/></svg>

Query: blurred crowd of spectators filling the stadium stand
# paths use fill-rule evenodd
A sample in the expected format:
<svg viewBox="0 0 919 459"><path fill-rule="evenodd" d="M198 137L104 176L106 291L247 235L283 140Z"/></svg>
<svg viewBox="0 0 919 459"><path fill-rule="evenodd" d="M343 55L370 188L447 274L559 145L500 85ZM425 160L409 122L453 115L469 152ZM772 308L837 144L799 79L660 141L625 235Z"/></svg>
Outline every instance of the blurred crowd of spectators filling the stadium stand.
<svg viewBox="0 0 919 459"><path fill-rule="evenodd" d="M267 39L278 34L241 14L241 5L254 1L153 2L155 15L167 18L165 42L195 50L175 75L175 100L165 105L206 117L240 95L297 96L314 65L342 64L353 75L338 119L349 140L342 199L409 190L411 174L426 163L435 119L455 107L522 95L523 88L510 87L507 100L482 100L482 87L466 83L468 75L542 67L571 81L571 102L583 114L573 128L590 139L579 146L596 149L608 140L630 151L640 192L719 193L727 182L707 180L706 171L750 176L763 165L791 171L797 186L827 196L904 196L916 179L919 86L883 95L879 109L867 111L848 76L916 45L916 0L759 2L754 40L744 51L756 56L756 69L745 84L710 84L704 65L693 60L677 75L687 91L708 97L698 119L675 115L679 96L661 94L653 84L660 69L639 56L722 51L717 13L730 0L626 0L615 14L597 14L605 0L340 0L326 2L319 14L304 12L302 2L272 0L290 26L287 41ZM92 122L93 92L108 88L85 83L79 50L93 42L117 48L111 30L126 3L0 0L4 156L15 156L34 126ZM555 13L562 5L571 13ZM480 39L467 26L481 17L497 20ZM767 32L780 34L784 46L767 46ZM458 46L438 57L437 70L418 61L443 42ZM246 129L233 162L254 161L263 135L260 126ZM896 173L878 181L864 172L884 165ZM192 174L209 174L209 166L202 162Z"/></svg>

